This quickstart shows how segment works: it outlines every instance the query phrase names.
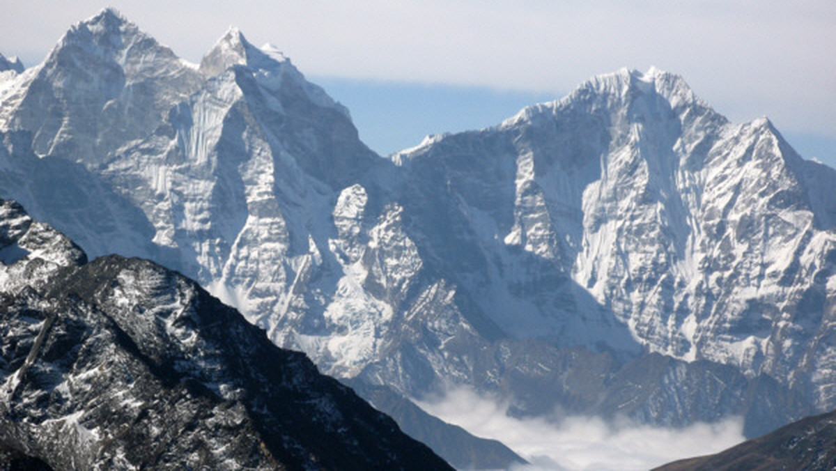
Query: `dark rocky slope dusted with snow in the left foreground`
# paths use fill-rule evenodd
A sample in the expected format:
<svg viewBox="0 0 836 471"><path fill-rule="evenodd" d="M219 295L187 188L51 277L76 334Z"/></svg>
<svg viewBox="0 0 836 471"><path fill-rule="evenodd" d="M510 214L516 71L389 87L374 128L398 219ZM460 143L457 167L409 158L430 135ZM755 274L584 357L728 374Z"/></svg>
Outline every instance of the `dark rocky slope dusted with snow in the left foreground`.
<svg viewBox="0 0 836 471"><path fill-rule="evenodd" d="M0 206L0 444L56 469L446 469L195 282Z"/></svg>

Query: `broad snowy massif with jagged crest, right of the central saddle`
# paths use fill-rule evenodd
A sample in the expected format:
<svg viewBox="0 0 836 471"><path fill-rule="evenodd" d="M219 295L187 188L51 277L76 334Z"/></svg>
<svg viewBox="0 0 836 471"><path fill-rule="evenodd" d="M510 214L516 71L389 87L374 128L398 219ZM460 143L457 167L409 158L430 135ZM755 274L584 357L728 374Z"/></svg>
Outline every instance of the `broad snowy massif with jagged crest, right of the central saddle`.
<svg viewBox="0 0 836 471"><path fill-rule="evenodd" d="M554 280L509 276L507 253L530 254L533 274L570 277L650 351L764 372L833 406L836 172L803 161L767 120L728 123L681 78L622 70L395 161L415 176L412 202L433 179L425 169L444 169L448 219L472 234L461 246L487 248L468 258L481 265L447 269L467 289L553 294ZM477 299L498 325L524 319Z"/></svg>

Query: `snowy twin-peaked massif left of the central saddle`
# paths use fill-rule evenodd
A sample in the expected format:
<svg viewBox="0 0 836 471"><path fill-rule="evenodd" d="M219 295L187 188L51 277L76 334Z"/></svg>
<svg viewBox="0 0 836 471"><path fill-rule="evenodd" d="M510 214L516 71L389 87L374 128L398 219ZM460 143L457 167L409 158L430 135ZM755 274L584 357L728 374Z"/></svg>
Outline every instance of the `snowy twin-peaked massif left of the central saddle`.
<svg viewBox="0 0 836 471"><path fill-rule="evenodd" d="M329 374L358 375L387 354L395 307L377 296L403 298L421 267L365 253L371 230L379 252L415 258L386 230L401 220L382 196L392 182L370 177L394 166L275 48L232 28L186 64L107 9L4 90L3 196L93 255L154 259L199 280ZM367 272L384 291L364 287ZM485 454L469 439L470 455Z"/></svg>

